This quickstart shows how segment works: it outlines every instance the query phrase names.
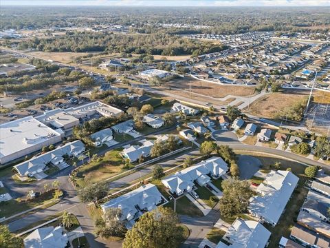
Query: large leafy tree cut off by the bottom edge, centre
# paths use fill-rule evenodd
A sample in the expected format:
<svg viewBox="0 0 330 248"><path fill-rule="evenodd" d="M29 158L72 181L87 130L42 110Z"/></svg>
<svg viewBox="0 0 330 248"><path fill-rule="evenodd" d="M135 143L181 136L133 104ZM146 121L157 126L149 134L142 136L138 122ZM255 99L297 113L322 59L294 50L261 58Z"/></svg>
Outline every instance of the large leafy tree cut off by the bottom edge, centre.
<svg viewBox="0 0 330 248"><path fill-rule="evenodd" d="M133 228L126 232L123 248L179 247L184 231L179 218L169 207L158 207L143 214Z"/></svg>

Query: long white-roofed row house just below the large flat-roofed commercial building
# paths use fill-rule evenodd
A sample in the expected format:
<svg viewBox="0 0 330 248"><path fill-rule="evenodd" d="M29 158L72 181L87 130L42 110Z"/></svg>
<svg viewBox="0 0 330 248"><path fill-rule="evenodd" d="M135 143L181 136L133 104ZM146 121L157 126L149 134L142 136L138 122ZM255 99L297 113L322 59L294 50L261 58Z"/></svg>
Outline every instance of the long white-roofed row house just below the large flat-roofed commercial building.
<svg viewBox="0 0 330 248"><path fill-rule="evenodd" d="M33 157L28 161L14 165L20 176L34 176L34 174L43 172L47 164L58 165L64 162L64 156L78 156L85 152L85 145L81 141L67 143L50 152Z"/></svg>

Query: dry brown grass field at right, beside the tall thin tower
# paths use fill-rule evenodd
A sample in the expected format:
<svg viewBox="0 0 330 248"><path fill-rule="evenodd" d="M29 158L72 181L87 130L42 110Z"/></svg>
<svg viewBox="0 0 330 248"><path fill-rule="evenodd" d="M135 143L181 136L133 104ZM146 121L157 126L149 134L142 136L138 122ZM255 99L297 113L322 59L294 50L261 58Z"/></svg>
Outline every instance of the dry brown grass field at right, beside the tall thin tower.
<svg viewBox="0 0 330 248"><path fill-rule="evenodd" d="M248 112L257 116L272 118L274 116L274 112L292 105L299 99L303 99L306 95L307 92L300 92L300 94L290 92L276 92L267 94L254 101L250 105L250 110Z"/></svg>

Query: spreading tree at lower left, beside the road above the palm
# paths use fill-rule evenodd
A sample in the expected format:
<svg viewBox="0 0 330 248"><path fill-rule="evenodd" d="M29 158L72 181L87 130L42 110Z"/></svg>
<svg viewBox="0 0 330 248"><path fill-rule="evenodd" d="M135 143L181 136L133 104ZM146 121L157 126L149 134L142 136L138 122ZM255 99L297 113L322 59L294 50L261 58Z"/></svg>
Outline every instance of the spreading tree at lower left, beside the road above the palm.
<svg viewBox="0 0 330 248"><path fill-rule="evenodd" d="M83 189L78 190L78 196L83 203L93 202L95 205L107 196L109 192L109 185L107 182L100 182L88 185Z"/></svg>

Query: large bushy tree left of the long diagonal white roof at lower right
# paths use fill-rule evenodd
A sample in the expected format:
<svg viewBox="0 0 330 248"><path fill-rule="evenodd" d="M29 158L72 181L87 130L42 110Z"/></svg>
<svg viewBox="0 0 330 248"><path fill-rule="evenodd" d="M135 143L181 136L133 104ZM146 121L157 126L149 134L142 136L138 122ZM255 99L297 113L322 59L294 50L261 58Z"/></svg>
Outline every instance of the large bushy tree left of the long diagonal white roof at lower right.
<svg viewBox="0 0 330 248"><path fill-rule="evenodd" d="M223 197L219 200L222 216L231 217L246 211L252 196L250 183L247 180L229 178L221 183Z"/></svg>

